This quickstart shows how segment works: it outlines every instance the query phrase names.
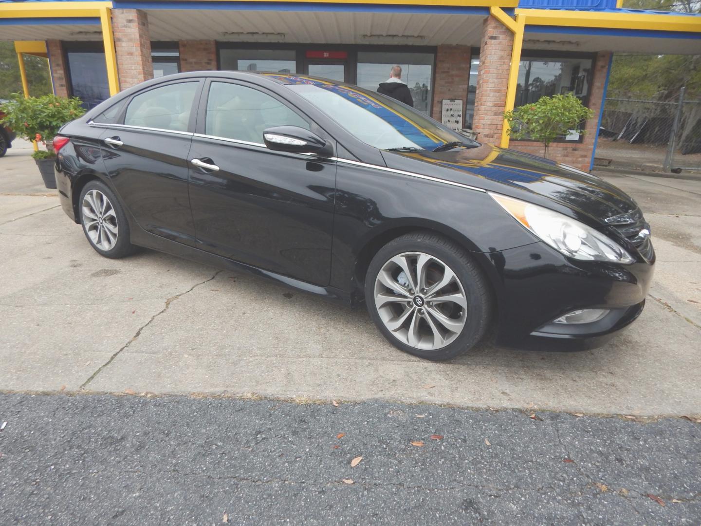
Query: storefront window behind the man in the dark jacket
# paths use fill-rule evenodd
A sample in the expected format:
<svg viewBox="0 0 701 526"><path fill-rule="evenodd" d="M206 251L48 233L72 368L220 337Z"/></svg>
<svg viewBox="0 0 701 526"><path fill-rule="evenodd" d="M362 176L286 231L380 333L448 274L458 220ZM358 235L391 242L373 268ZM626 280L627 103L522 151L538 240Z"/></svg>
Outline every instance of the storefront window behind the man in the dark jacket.
<svg viewBox="0 0 701 526"><path fill-rule="evenodd" d="M402 67L402 81L409 86L414 108L430 114L433 81L433 53L386 53L358 51L358 79L361 88L376 91L389 79L394 65Z"/></svg>

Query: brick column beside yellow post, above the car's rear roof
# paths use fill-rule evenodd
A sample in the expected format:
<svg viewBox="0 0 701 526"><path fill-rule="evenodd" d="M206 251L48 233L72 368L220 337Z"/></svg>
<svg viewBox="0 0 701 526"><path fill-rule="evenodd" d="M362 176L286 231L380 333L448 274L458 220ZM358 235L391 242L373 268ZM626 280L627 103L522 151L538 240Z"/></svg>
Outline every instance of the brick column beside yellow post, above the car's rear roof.
<svg viewBox="0 0 701 526"><path fill-rule="evenodd" d="M149 18L139 9L113 9L112 32L119 88L125 90L154 78Z"/></svg>

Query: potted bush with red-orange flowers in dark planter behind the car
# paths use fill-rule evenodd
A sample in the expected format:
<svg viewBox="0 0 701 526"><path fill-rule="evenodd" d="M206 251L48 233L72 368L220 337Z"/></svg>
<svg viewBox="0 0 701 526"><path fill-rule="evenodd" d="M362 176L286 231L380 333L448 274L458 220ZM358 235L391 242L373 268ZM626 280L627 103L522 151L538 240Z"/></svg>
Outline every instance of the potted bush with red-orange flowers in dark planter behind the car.
<svg viewBox="0 0 701 526"><path fill-rule="evenodd" d="M56 95L25 97L13 93L10 100L0 106L5 116L0 120L23 139L46 144L46 151L39 150L32 154L46 188L55 188L53 172L54 159L53 137L65 123L77 119L85 113L78 97L65 98Z"/></svg>

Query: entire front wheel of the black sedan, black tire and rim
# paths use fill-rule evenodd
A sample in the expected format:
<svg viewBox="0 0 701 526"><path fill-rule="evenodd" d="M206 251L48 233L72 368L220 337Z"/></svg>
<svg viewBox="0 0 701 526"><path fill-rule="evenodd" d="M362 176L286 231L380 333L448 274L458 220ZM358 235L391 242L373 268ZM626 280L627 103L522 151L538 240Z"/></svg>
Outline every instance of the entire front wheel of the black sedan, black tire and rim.
<svg viewBox="0 0 701 526"><path fill-rule="evenodd" d="M489 328L493 304L468 252L429 231L400 236L376 253L365 276L365 302L397 349L428 360L449 360L472 349Z"/></svg>

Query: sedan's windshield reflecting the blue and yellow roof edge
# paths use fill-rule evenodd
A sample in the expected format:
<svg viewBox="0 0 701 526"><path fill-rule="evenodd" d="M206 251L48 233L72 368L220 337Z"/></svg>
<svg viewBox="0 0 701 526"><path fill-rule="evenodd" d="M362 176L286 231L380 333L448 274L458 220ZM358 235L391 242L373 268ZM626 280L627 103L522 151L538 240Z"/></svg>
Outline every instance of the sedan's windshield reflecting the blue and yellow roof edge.
<svg viewBox="0 0 701 526"><path fill-rule="evenodd" d="M288 87L325 112L349 133L379 149L433 150L442 144L479 143L429 119L390 97L357 86L339 86L304 77ZM290 79L287 79L290 80Z"/></svg>

